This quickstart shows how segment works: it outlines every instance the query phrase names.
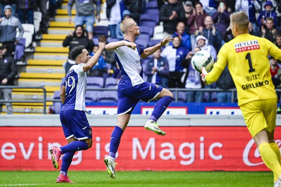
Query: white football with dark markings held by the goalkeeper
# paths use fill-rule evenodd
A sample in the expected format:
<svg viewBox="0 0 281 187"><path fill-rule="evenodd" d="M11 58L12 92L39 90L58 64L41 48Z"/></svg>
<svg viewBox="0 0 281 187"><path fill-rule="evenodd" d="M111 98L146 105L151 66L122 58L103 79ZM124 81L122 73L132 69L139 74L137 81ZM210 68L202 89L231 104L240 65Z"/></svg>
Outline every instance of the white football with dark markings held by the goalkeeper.
<svg viewBox="0 0 281 187"><path fill-rule="evenodd" d="M193 69L201 73L202 67L205 67L207 71L210 71L214 65L214 58L208 51L198 51L191 58L191 65Z"/></svg>

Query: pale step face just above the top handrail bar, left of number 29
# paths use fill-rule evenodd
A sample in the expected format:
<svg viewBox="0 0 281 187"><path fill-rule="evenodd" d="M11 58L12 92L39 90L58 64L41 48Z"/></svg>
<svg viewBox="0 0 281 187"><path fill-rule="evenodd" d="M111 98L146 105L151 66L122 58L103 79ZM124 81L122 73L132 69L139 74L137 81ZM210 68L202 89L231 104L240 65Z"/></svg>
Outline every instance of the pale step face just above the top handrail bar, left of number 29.
<svg viewBox="0 0 281 187"><path fill-rule="evenodd" d="M19 86L56 86L61 87L61 79L18 79Z"/></svg>

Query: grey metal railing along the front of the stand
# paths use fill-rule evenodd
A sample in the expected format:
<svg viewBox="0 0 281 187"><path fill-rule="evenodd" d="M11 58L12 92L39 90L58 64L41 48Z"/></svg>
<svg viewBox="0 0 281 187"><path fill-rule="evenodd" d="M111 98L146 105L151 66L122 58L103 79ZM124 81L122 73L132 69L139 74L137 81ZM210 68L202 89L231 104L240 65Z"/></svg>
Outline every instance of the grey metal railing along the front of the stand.
<svg viewBox="0 0 281 187"><path fill-rule="evenodd" d="M44 86L0 86L0 89L42 89L43 90L43 100L0 100L0 103L43 103L43 114L46 114L46 102L61 102L60 99L47 99L46 96L46 89ZM97 90L97 91L105 91L105 90L116 90L117 88L88 88L87 90ZM201 92L231 92L231 103L234 103L234 93L236 92L236 89L206 89L206 88L200 88L200 89L190 89L190 88L170 88L170 91L175 91L175 102L178 102L179 100L179 92L180 91L201 91ZM275 89L276 92L281 92L281 89Z"/></svg>

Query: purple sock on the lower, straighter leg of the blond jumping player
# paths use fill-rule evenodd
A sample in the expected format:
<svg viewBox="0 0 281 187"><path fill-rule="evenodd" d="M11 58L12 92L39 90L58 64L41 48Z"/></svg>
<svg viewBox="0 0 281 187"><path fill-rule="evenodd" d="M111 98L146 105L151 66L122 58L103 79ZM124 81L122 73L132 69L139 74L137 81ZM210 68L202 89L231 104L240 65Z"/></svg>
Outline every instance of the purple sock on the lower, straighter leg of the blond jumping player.
<svg viewBox="0 0 281 187"><path fill-rule="evenodd" d="M115 126L111 134L110 147L109 147L109 156L113 158L115 158L115 154L119 147L122 134L123 134L123 130L118 126Z"/></svg>

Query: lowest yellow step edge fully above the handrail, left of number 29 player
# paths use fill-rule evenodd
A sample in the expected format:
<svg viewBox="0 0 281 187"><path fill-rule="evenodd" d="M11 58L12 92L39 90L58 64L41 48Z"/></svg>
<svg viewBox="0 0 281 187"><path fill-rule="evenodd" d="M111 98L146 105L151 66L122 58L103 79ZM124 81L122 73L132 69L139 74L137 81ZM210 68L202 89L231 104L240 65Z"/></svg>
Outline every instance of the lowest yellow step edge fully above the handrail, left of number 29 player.
<svg viewBox="0 0 281 187"><path fill-rule="evenodd" d="M22 72L19 74L20 78L26 79L62 79L65 73L27 73Z"/></svg>

